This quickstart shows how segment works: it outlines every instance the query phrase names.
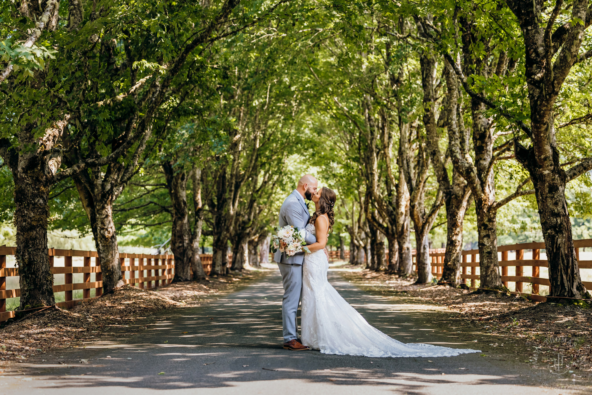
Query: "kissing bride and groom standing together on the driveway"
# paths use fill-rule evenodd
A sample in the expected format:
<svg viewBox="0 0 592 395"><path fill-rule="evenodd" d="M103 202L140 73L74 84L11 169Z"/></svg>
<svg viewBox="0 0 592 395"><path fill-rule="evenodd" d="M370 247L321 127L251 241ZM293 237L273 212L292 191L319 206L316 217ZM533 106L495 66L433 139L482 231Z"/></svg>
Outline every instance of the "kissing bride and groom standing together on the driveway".
<svg viewBox="0 0 592 395"><path fill-rule="evenodd" d="M401 343L371 326L337 293L327 281L329 256L325 250L327 237L335 223L333 207L337 197L329 188L317 190L317 187L316 178L304 175L279 210L279 227L290 225L305 229L304 240L310 251L288 256L278 250L274 255L284 284L284 348L365 357L452 357L479 352L424 343ZM305 199L314 203L312 217ZM302 338L298 338L296 313L301 297Z"/></svg>

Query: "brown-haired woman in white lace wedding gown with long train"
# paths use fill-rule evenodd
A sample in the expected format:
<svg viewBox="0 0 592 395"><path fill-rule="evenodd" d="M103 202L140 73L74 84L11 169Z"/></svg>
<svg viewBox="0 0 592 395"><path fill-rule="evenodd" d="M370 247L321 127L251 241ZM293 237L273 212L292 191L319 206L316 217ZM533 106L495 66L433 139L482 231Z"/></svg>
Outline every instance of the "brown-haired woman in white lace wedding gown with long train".
<svg viewBox="0 0 592 395"><path fill-rule="evenodd" d="M323 252L333 224L335 192L322 188L313 195L315 212L306 230L317 235L303 265L302 343L324 354L365 357L451 357L479 352L424 343L401 343L371 326L327 281L329 261Z"/></svg>

